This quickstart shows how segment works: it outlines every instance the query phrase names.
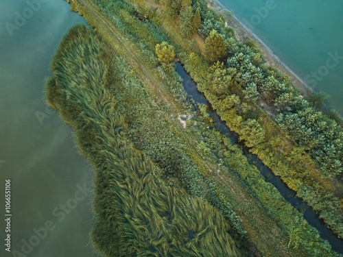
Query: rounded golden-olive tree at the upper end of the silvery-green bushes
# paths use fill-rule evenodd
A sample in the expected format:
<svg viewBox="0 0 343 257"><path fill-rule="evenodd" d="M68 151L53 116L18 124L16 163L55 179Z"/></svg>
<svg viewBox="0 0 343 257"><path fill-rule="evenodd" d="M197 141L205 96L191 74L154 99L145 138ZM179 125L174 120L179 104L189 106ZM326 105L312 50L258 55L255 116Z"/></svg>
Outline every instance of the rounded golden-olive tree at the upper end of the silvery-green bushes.
<svg viewBox="0 0 343 257"><path fill-rule="evenodd" d="M204 58L208 62L217 62L225 56L225 40L215 29L205 40Z"/></svg>

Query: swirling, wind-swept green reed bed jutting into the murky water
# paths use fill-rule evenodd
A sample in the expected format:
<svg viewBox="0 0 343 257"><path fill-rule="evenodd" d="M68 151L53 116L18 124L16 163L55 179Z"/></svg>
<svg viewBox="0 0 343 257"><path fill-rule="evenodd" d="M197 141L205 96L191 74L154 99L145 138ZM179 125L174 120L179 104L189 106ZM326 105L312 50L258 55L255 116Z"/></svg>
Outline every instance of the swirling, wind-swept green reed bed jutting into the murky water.
<svg viewBox="0 0 343 257"><path fill-rule="evenodd" d="M220 212L167 186L156 164L128 140L111 89L121 83L117 63L104 45L91 29L74 27L47 83L49 104L73 127L95 170L95 249L111 257L239 256Z"/></svg>

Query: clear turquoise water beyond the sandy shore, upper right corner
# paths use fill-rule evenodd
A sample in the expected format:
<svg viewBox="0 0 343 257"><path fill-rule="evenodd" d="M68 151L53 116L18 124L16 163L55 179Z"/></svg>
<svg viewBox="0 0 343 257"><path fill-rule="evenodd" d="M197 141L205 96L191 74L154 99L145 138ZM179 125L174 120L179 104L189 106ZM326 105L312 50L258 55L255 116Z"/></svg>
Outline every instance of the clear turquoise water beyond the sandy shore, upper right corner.
<svg viewBox="0 0 343 257"><path fill-rule="evenodd" d="M220 2L343 114L343 1Z"/></svg>

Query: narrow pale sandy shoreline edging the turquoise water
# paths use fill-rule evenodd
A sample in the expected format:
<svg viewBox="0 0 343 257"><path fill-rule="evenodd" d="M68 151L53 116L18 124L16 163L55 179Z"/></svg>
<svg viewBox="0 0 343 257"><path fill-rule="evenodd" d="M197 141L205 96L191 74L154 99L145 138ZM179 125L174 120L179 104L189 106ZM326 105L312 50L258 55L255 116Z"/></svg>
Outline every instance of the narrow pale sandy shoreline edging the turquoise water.
<svg viewBox="0 0 343 257"><path fill-rule="evenodd" d="M254 34L254 32L246 27L244 23L239 21L235 14L230 12L230 10L220 3L220 1L207 0L207 2L209 3L209 8L215 10L219 14L222 14L226 18L228 27L232 27L235 30L235 36L239 42L254 40L257 43L257 47L263 53L265 62L267 62L268 65L287 75L294 87L298 89L302 95L307 96L309 93L314 93L314 90L303 79L301 79L294 71L292 71L292 69L290 69L283 61L281 61L280 58L276 56L256 34ZM327 104L325 104L325 108L328 110L333 110L333 108ZM340 118L342 119L342 116L340 116Z"/></svg>

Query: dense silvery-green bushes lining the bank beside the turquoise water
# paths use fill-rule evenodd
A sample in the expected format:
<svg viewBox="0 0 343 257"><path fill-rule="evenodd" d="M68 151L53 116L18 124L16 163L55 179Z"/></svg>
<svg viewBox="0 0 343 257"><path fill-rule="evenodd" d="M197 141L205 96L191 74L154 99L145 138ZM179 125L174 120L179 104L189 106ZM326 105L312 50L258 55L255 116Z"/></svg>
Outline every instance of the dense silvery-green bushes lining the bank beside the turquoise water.
<svg viewBox="0 0 343 257"><path fill-rule="evenodd" d="M322 112L309 108L309 103L296 93L287 77L283 77L263 63L259 51L249 47L249 44L239 44L227 33L221 16L207 10L202 4L198 5L201 7L203 18L200 34L204 38L209 38L214 29L226 40L227 53L230 54L226 69L230 69L229 75L239 85L237 92L241 92L249 101L254 102L261 98L270 106L274 106L279 114L276 121L283 132L295 143L305 147L317 162L324 177L340 174L343 162L342 127ZM215 42L211 45L215 45ZM211 58L206 51L204 59L210 62L218 60ZM235 88L228 88L226 95L235 92L233 89ZM220 97L223 97L223 93ZM323 97L322 94L317 98L311 97L314 106L318 108Z"/></svg>

